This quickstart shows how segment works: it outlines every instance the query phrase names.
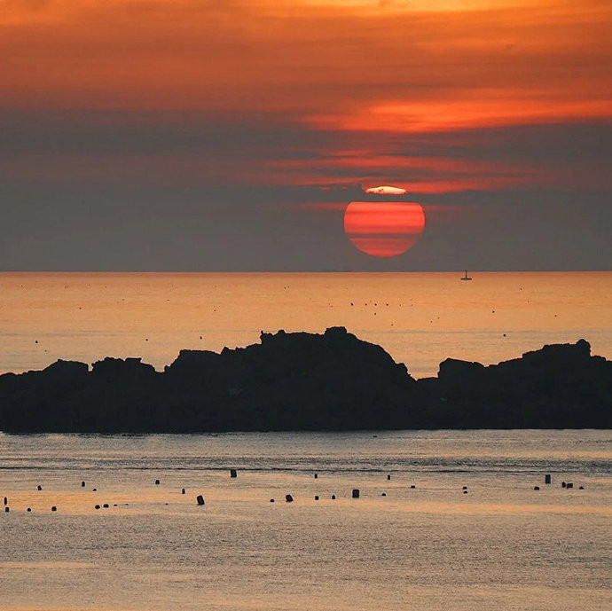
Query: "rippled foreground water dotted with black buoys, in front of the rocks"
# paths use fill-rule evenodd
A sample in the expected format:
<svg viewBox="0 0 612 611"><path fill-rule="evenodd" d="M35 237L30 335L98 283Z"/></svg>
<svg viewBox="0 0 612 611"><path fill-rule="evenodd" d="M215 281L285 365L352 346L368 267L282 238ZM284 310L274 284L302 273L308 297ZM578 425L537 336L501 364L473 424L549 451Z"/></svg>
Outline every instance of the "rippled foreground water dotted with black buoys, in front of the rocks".
<svg viewBox="0 0 612 611"><path fill-rule="evenodd" d="M612 608L610 431L0 434L0 496L7 611Z"/></svg>

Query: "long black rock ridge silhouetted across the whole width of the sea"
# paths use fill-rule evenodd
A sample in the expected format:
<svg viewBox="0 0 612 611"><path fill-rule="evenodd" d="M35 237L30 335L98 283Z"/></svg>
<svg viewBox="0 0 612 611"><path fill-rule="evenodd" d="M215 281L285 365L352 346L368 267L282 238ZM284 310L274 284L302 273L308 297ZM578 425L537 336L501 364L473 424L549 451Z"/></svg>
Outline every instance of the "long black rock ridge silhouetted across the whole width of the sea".
<svg viewBox="0 0 612 611"><path fill-rule="evenodd" d="M585 340L484 366L456 359L414 380L343 327L262 333L244 349L59 360L0 376L5 432L191 433L401 428L610 428L612 363ZM389 479L389 478L388 478Z"/></svg>

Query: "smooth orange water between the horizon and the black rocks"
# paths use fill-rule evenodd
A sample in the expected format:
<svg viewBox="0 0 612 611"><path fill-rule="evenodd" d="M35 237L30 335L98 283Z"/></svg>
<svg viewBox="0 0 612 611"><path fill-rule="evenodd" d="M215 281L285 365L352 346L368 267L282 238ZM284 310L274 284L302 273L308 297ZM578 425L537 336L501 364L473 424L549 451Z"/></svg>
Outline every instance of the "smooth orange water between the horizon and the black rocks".
<svg viewBox="0 0 612 611"><path fill-rule="evenodd" d="M415 377L452 356L483 364L585 338L612 357L612 272L0 274L0 372L58 358L247 346L261 331L346 326Z"/></svg>

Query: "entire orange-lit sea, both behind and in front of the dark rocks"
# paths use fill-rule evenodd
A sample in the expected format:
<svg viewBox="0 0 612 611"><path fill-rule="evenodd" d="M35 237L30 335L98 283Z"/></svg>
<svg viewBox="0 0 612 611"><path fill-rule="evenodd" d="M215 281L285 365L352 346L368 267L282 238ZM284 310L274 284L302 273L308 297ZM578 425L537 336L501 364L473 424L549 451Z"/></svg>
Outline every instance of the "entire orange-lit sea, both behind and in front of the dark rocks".
<svg viewBox="0 0 612 611"><path fill-rule="evenodd" d="M461 276L2 273L0 372L334 325L417 378L612 357L612 273ZM3 611L612 608L609 430L0 433L3 497Z"/></svg>

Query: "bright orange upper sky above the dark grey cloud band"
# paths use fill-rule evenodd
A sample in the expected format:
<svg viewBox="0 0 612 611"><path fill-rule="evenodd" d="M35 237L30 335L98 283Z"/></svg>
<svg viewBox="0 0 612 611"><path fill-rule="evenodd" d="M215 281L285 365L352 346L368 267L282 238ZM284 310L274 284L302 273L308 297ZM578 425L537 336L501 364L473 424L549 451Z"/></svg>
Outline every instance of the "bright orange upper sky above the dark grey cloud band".
<svg viewBox="0 0 612 611"><path fill-rule="evenodd" d="M386 128L609 117L611 22L605 0L4 0L0 99Z"/></svg>

